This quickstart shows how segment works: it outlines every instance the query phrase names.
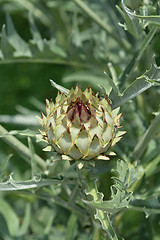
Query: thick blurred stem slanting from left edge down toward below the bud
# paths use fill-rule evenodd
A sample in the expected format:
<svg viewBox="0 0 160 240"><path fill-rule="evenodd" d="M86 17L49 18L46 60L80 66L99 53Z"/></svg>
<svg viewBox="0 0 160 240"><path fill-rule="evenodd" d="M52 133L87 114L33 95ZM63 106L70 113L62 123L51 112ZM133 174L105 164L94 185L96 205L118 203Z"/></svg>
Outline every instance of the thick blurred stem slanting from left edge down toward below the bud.
<svg viewBox="0 0 160 240"><path fill-rule="evenodd" d="M16 137L9 135L8 131L0 125L0 135L6 135L2 137L2 140L9 144L12 148L14 148L18 153L22 154L23 156L31 159L31 152L29 148L27 148L23 143L21 143ZM44 170L46 168L45 161L35 154L35 160L38 165Z"/></svg>

